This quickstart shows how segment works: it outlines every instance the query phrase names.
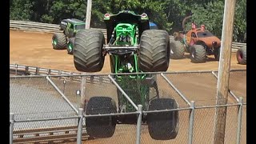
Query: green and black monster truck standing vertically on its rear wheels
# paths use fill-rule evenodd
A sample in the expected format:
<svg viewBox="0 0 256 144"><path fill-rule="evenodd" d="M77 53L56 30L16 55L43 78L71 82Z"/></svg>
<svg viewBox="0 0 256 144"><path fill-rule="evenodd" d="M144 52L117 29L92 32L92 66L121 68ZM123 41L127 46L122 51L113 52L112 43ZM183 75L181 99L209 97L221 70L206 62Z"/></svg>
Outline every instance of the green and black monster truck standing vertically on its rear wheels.
<svg viewBox="0 0 256 144"><path fill-rule="evenodd" d="M74 42L74 66L83 72L100 71L106 54L109 54L111 72L114 73L112 78L122 90L117 90L118 107L110 97L92 97L85 106L86 114L134 112L139 104L143 110L178 108L173 98L159 98L153 74L141 73L168 69L170 39L166 30L150 30L147 14L135 14L130 10L105 14L104 21L107 44L101 30L78 31ZM154 96L151 98L150 95ZM90 117L86 118L86 131L90 137L109 138L114 134L117 123L136 122L137 115ZM178 111L144 114L142 122L147 122L150 136L154 139L172 139L178 134Z"/></svg>

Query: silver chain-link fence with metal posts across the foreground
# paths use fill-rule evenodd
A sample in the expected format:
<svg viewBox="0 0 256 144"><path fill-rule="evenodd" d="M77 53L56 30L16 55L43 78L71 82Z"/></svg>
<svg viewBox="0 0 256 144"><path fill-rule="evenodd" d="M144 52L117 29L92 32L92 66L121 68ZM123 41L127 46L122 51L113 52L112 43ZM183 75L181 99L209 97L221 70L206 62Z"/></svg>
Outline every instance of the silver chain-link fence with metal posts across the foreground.
<svg viewBox="0 0 256 144"><path fill-rule="evenodd" d="M214 74L150 73L144 80L133 80L138 74L10 76L10 143L64 142L63 139L78 143L213 143L217 86ZM224 106L225 143L246 143L245 78L246 70L230 72L232 93ZM169 112L153 111L178 111L178 134L174 139L156 140L150 136L145 118L152 113L150 102L158 98L173 98L178 103L177 109L168 108ZM236 98L245 101L242 104ZM85 105L94 112L82 110ZM127 122L118 121L114 131L106 126L113 132L110 138L90 137L88 133L94 130L86 127L86 123L108 118Z"/></svg>

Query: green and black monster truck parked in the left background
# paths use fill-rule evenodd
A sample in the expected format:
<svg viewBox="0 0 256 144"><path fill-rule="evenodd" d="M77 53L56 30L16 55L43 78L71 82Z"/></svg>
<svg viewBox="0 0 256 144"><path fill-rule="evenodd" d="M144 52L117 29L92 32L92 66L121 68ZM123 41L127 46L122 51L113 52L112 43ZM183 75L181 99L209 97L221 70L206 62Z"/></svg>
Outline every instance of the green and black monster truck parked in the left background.
<svg viewBox="0 0 256 144"><path fill-rule="evenodd" d="M74 37L78 30L84 30L86 22L79 19L63 19L60 23L62 33L55 33L52 38L52 45L55 50L66 49L68 54L73 54Z"/></svg>

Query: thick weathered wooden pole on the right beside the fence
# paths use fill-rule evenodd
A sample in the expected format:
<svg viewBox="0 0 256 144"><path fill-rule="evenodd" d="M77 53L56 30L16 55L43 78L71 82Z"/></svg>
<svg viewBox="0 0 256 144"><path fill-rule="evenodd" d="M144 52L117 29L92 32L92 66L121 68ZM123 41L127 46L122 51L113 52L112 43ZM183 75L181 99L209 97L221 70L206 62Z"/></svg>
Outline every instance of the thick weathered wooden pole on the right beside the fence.
<svg viewBox="0 0 256 144"><path fill-rule="evenodd" d="M228 98L235 2L235 0L225 0L222 42L218 65L217 105L225 105ZM214 144L224 144L225 126L226 107L218 107L215 112Z"/></svg>

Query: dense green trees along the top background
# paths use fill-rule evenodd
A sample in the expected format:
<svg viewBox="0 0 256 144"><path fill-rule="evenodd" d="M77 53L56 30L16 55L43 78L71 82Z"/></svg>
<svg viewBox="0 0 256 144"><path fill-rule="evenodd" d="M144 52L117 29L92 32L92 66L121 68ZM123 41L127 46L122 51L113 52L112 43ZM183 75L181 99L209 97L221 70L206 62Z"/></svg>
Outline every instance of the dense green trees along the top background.
<svg viewBox="0 0 256 144"><path fill-rule="evenodd" d="M103 15L120 10L146 13L151 22L170 34L182 31L182 20L204 24L221 38L225 0L92 0L91 27L105 28ZM86 0L10 0L10 19L58 24L63 18L86 19ZM237 0L234 15L234 41L245 42L246 0Z"/></svg>

